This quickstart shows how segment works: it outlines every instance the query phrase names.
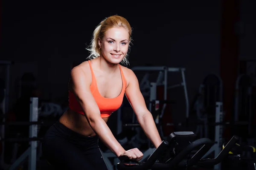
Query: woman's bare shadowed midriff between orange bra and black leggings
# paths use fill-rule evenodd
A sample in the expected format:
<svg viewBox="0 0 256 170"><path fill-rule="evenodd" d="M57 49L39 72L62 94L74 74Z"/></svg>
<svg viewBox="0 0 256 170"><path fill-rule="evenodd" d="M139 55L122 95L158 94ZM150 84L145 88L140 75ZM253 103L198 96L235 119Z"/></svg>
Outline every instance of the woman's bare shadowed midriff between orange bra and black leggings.
<svg viewBox="0 0 256 170"><path fill-rule="evenodd" d="M102 118L105 122L108 121L107 118ZM68 109L59 119L60 123L69 129L75 131L84 136L95 136L96 133L90 127L86 117L83 114L77 113Z"/></svg>

